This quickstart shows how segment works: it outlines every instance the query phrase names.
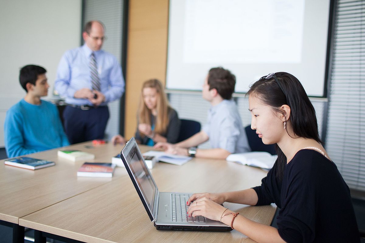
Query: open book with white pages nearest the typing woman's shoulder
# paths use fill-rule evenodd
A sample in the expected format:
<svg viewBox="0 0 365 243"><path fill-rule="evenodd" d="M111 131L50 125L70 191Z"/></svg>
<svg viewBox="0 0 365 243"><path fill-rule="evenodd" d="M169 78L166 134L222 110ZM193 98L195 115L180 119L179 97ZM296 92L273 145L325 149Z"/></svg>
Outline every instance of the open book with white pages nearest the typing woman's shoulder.
<svg viewBox="0 0 365 243"><path fill-rule="evenodd" d="M227 161L238 162L239 164L260 167L263 169L271 169L276 159L277 155L271 155L268 152L230 154L226 158Z"/></svg>

